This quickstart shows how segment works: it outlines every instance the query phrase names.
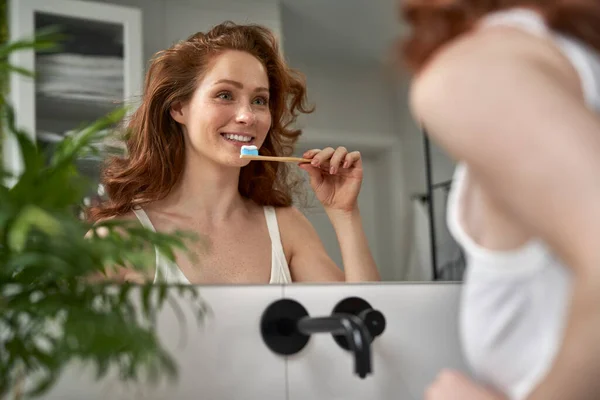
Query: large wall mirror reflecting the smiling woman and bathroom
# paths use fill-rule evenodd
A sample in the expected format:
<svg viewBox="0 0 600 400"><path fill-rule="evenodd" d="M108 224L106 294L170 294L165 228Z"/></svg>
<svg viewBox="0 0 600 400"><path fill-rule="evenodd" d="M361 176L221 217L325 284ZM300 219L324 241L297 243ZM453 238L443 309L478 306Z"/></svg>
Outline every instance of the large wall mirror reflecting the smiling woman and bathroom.
<svg viewBox="0 0 600 400"><path fill-rule="evenodd" d="M132 104L129 142L110 143L127 156L78 161L94 182L87 216L198 236L174 260L158 251L152 271L113 278L462 279L445 224L454 165L410 114L392 61L395 2L177 0L165 14L160 2L104 3L141 10L140 31L36 13L36 29L59 25L68 39L36 52L31 128L50 157L76 126ZM241 159L244 146L310 162Z"/></svg>

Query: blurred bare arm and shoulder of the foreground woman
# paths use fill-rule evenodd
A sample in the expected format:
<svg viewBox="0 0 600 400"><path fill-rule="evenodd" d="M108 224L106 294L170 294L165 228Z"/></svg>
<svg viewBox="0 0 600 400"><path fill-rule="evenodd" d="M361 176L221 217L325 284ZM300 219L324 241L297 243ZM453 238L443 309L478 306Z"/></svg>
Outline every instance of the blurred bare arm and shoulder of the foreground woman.
<svg viewBox="0 0 600 400"><path fill-rule="evenodd" d="M529 399L597 398L600 121L547 45L507 32L472 42L424 72L413 109L486 193L573 269L566 336Z"/></svg>

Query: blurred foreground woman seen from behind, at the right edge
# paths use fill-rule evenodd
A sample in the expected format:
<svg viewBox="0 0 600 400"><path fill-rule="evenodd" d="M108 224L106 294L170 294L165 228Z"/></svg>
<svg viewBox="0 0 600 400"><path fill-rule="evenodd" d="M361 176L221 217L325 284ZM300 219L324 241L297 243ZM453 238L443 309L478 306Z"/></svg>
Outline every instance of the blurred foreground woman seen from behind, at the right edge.
<svg viewBox="0 0 600 400"><path fill-rule="evenodd" d="M600 398L600 3L414 0L411 106L458 161L448 224L478 380L427 399Z"/></svg>

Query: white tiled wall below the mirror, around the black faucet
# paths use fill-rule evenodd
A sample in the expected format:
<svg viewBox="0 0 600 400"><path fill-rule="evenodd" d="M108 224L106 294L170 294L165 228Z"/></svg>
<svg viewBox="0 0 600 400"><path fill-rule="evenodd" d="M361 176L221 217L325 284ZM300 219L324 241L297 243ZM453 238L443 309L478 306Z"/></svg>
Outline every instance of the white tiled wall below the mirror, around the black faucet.
<svg viewBox="0 0 600 400"><path fill-rule="evenodd" d="M455 284L201 286L211 309L197 325L197 303L179 299L185 323L165 307L160 338L179 367L179 380L125 387L116 379L94 382L93 371L73 366L46 399L421 399L442 368L466 371L460 354ZM373 374L359 379L353 359L331 335L312 335L299 353L271 352L260 319L272 302L289 298L311 317L331 315L346 297L358 296L383 313L386 328L372 344ZM183 335L182 335L183 334ZM183 340L182 340L183 339Z"/></svg>

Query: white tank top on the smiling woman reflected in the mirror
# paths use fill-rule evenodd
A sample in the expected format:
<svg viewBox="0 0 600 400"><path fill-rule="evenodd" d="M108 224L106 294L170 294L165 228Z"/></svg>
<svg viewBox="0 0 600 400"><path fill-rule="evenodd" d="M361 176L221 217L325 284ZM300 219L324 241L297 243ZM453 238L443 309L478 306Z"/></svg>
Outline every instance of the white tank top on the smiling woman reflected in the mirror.
<svg viewBox="0 0 600 400"><path fill-rule="evenodd" d="M267 229L271 238L271 278L269 283L285 284L291 283L292 277L290 269L283 252L281 237L279 236L279 224L277 223L277 214L273 207L263 207L265 218L267 220ZM147 229L156 232L154 225L148 218L148 214L142 209L134 209L136 217L140 223ZM156 252L156 272L154 274L154 282L169 283L169 284L185 284L189 285L190 281L185 277L179 266L166 258L158 249Z"/></svg>

